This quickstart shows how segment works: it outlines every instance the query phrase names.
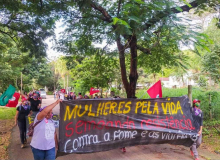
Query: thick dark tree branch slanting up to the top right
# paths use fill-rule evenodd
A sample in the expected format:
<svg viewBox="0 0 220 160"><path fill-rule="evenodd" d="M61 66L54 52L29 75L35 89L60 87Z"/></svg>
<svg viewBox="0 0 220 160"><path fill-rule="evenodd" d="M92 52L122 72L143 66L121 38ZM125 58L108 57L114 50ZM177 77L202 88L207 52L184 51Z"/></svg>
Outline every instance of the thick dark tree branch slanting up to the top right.
<svg viewBox="0 0 220 160"><path fill-rule="evenodd" d="M206 2L206 0L202 0L202 2L200 1L200 3L199 3L199 0L195 0L191 3L189 3L192 7L189 7L188 5L184 5L184 6L180 7L182 9L182 11L177 10L176 7L171 8L170 10L167 9L167 10L164 10L164 11L160 11L155 16L153 16L147 23L145 23L144 30L149 29L151 26L153 26L154 24L159 22L164 17L169 16L170 14L181 13L181 12L189 12L190 9L196 8L196 7L199 6L199 4L205 3L205 2Z"/></svg>

